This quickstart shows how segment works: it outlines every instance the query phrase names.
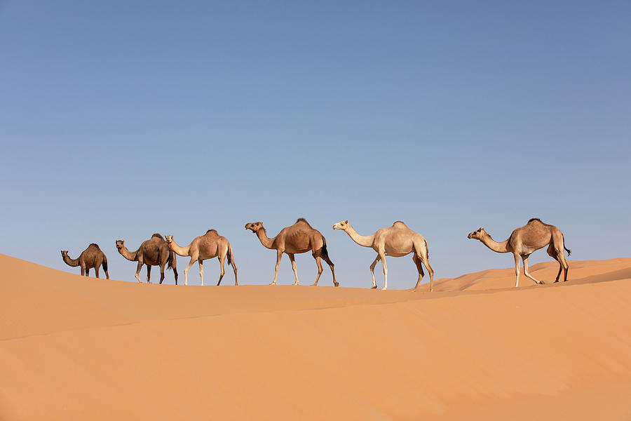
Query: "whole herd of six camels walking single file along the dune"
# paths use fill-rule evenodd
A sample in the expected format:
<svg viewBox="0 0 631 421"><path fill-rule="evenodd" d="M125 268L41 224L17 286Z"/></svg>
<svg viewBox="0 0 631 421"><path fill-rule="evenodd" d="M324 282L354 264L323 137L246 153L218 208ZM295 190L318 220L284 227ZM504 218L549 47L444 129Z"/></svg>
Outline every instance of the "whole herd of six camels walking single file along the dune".
<svg viewBox="0 0 631 421"><path fill-rule="evenodd" d="M274 268L274 279L272 285L276 285L276 279L278 277L278 267L280 265L280 259L283 257L283 253L287 254L292 262L292 269L294 270L294 285L298 285L298 272L296 270L296 261L294 255L298 253L306 253L311 251L311 255L315 259L315 264L318 265L318 276L315 278L313 286L318 285L320 275L322 274L322 262L321 259L327 262L327 265L331 268L333 275L334 286L339 286L339 282L335 279L335 269L333 262L329 258L327 250L327 240L325 237L315 228L311 227L304 218L299 220L280 230L278 235L273 238L269 238L265 232L262 222L249 222L245 224L245 229L257 234L259 241L266 248L276 250L276 267ZM434 271L429 264L429 248L427 241L421 234L418 234L412 229L409 229L404 222L396 221L392 227L382 228L377 230L370 236L362 236L353 229L353 226L348 223L348 220L338 222L333 225L333 229L341 229L346 232L348 236L358 243L360 246L370 247L376 251L377 255L372 264L370 265L370 273L372 274L372 288L376 288L376 281L374 279L374 267L381 260L381 265L384 267L384 290L388 288L388 267L386 266L386 256L393 256L395 258L402 257L412 253L412 261L416 265L416 269L419 271L419 278L416 281L414 290L421 283L423 279L423 267L425 265L430 276L430 291L433 290ZM543 223L538 218L532 218L523 227L517 228L510 234L510 237L506 241L498 243L491 238L484 228L477 229L471 232L468 239L476 239L482 241L485 246L495 251L496 253L513 253L515 257L515 286L519 286L520 283L520 258L524 262L524 275L535 281L535 283L541 284L543 281L534 279L528 272L528 258L535 250L548 246L548 255L559 262L559 273L555 282L559 281L561 272L564 272L563 280L567 281L568 265L565 260L564 250L570 255L571 250L565 247L564 237L560 229L554 225L548 225ZM228 264L232 266L234 271L234 283L238 285L237 281L237 267L234 262L234 254L232 252L232 246L228 239L224 236L220 236L215 229L209 229L204 235L196 237L186 247L180 247L173 240L172 235L166 236L166 239L161 234L153 234L151 239L144 241L138 250L130 251L125 247L125 241L116 240L116 249L118 253L121 253L123 258L131 260L132 262L138 262L136 268L136 279L140 282L140 269L143 265L147 266L147 283L150 283L151 279L151 266L160 267L160 283L164 280L164 268L173 269L175 275L175 285L177 285L177 268L175 255L190 256L191 261L189 265L184 269L184 285L188 285L187 274L189 269L198 262L199 264L199 276L201 279L201 285L204 284L204 272L203 272L203 260L218 258L220 265L219 281L217 285L222 282L224 277L224 262L228 259ZM95 269L96 277L99 277L99 267L103 267L105 276L109 279L107 273L107 258L102 250L95 243L91 243L83 253L79 255L79 258L71 259L67 250L62 250L62 259L69 266L81 267L81 275L88 276L90 269ZM422 264L422 265L421 265Z"/></svg>

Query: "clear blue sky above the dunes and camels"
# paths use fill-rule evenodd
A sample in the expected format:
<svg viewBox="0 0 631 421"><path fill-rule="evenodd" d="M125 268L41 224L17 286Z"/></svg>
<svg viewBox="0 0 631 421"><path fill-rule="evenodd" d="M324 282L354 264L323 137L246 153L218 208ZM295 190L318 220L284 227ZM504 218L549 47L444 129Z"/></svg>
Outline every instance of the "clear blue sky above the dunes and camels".
<svg viewBox="0 0 631 421"><path fill-rule="evenodd" d="M96 242L135 281L116 239L215 228L240 281L269 283L276 255L245 223L273 236L304 217L341 285L368 287L374 251L335 222L407 222L438 279L510 267L468 232L502 241L538 217L572 258L631 257L630 16L629 1L0 1L0 253L79 273L60 249ZM310 253L297 265L313 282ZM416 280L409 256L388 272Z"/></svg>

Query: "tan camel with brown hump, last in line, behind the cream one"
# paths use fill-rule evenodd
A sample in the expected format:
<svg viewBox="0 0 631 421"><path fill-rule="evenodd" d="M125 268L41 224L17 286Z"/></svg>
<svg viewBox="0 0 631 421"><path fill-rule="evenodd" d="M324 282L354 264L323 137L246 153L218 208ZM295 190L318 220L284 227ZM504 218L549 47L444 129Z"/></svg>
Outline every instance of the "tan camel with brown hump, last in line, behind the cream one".
<svg viewBox="0 0 631 421"><path fill-rule="evenodd" d="M496 253L513 253L513 256L515 256L516 287L520 285L520 256L524 261L524 274L536 283L543 283L543 281L534 279L528 272L528 257L534 250L545 246L548 246L548 254L559 262L559 273L555 282L559 281L562 270L564 272L563 281L567 281L568 265L563 250L567 251L567 255L570 255L572 252L565 247L565 239L561 230L554 225L544 224L539 218L532 218L523 227L515 229L513 234L510 234L510 237L508 237L508 240L501 243L491 239L491 236L484 231L484 228L471 232L467 238L482 241L484 246Z"/></svg>

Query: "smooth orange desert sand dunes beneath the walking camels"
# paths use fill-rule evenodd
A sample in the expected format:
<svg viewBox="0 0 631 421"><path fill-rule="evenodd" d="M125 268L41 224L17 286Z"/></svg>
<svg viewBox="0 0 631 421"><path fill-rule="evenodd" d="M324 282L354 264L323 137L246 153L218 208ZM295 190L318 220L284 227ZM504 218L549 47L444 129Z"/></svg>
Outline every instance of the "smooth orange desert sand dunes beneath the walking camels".
<svg viewBox="0 0 631 421"><path fill-rule="evenodd" d="M631 259L569 265L567 283L550 262L543 286L491 269L412 293L0 255L0 420L631 420Z"/></svg>

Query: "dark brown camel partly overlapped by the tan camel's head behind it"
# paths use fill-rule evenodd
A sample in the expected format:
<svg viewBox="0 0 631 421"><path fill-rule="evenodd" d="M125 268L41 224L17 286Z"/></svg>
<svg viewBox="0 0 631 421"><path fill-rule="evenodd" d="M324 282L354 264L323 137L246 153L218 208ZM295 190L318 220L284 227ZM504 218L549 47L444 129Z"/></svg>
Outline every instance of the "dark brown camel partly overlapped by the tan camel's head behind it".
<svg viewBox="0 0 631 421"><path fill-rule="evenodd" d="M140 269L142 265L147 265L147 283L151 283L151 266L160 267L160 283L164 281L164 267L168 265L168 269L173 269L175 274L175 285L177 285L177 268L175 267L175 253L169 250L169 246L163 237L156 233L151 236L151 239L143 241L140 247L136 251L130 251L125 247L124 240L116 240L116 248L118 253L121 253L123 258L131 260L132 262L138 262L136 269L136 279L140 282Z"/></svg>

